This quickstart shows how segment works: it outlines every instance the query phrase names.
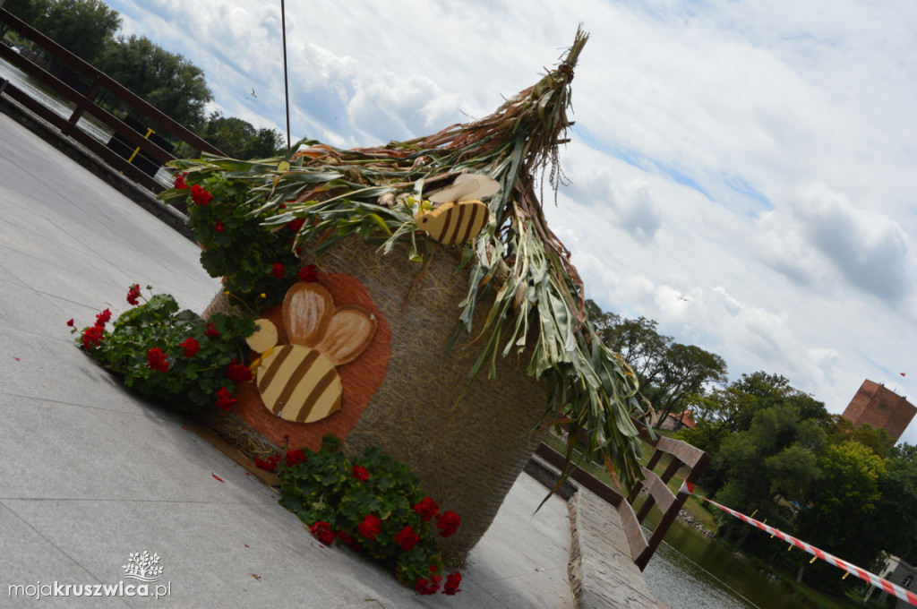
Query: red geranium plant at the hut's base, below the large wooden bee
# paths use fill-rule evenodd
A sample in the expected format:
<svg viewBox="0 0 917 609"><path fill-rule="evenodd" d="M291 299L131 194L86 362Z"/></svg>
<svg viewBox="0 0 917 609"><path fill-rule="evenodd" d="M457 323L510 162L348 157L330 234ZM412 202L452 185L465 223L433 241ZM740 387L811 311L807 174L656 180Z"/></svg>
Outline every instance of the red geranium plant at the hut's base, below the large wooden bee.
<svg viewBox="0 0 917 609"><path fill-rule="evenodd" d="M287 450L256 464L278 474L280 503L323 544L368 553L421 594L458 592L461 574L444 576L436 536L455 533L460 517L441 511L407 465L380 448L350 460L338 445L326 436L318 452Z"/></svg>

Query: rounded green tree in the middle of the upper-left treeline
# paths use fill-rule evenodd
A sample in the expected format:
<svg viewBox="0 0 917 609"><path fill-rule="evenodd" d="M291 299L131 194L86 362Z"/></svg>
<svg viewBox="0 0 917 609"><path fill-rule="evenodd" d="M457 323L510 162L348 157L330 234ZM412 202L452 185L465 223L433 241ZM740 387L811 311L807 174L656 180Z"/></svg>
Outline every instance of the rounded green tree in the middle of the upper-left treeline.
<svg viewBox="0 0 917 609"><path fill-rule="evenodd" d="M109 43L98 67L185 127L203 125L204 105L213 93L204 71L182 55L146 37L119 37Z"/></svg>

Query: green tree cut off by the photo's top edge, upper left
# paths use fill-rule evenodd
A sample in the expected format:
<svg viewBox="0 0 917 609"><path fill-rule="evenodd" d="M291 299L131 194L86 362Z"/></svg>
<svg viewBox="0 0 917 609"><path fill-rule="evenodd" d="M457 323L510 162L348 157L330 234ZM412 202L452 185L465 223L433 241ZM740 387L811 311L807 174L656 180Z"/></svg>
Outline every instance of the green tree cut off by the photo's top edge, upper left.
<svg viewBox="0 0 917 609"><path fill-rule="evenodd" d="M121 16L102 0L52 0L41 12L43 4L29 9L38 12L35 28L89 63L99 59L121 28Z"/></svg>

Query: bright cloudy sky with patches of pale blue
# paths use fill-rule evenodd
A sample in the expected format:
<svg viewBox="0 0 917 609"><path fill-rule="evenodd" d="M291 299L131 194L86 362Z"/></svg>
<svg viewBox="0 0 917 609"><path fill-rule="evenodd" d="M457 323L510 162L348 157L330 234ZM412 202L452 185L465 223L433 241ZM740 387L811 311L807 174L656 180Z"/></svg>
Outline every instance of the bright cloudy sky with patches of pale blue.
<svg viewBox="0 0 917 609"><path fill-rule="evenodd" d="M210 111L286 134L281 3L107 0L204 70ZM563 4L564 6L561 6ZM487 116L590 33L546 195L587 296L841 413L917 404L917 3L286 3L293 141ZM902 376L902 373L905 376ZM901 437L917 444L917 422Z"/></svg>

